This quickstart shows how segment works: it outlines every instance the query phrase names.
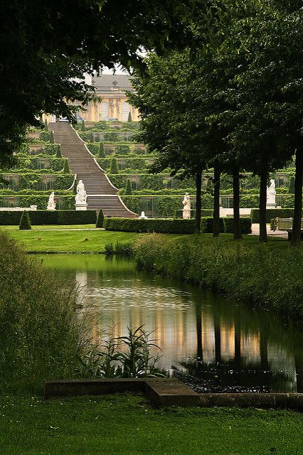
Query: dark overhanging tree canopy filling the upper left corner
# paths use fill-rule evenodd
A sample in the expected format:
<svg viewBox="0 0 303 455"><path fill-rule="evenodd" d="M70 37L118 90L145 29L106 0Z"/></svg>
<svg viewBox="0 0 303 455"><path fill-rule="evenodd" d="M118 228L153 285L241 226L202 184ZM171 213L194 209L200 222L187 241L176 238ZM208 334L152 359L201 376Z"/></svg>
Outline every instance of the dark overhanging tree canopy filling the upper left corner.
<svg viewBox="0 0 303 455"><path fill-rule="evenodd" d="M202 2L203 4L203 2ZM71 118L65 100L87 101L85 72L136 68L140 46L160 52L188 41L197 0L1 2L0 163L41 112Z"/></svg>

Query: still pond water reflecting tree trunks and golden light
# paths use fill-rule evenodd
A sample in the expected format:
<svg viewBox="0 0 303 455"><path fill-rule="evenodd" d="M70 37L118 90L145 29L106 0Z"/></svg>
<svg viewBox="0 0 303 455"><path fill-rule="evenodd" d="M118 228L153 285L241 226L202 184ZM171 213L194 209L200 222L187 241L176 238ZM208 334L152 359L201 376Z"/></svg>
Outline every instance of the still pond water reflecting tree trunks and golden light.
<svg viewBox="0 0 303 455"><path fill-rule="evenodd" d="M303 392L302 327L190 284L104 255L41 255L78 287L95 339L144 324L159 366L200 392Z"/></svg>

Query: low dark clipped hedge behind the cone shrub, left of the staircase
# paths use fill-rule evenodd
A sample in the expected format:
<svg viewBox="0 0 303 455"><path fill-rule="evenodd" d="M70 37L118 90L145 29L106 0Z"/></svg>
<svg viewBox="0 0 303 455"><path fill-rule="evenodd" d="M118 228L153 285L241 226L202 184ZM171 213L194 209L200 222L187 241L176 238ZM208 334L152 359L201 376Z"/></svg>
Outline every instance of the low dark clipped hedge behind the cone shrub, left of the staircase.
<svg viewBox="0 0 303 455"><path fill-rule="evenodd" d="M0 225L19 225L22 211L1 211ZM90 225L95 224L95 210L28 210L32 225Z"/></svg>

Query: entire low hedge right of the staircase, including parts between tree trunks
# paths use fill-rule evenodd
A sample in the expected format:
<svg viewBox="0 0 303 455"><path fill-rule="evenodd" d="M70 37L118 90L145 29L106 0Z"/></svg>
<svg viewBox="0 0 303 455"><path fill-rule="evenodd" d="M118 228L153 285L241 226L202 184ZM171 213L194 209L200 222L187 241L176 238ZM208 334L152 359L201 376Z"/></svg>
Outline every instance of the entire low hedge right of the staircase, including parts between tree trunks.
<svg viewBox="0 0 303 455"><path fill-rule="evenodd" d="M240 218L243 234L251 233L250 218ZM138 218L105 218L105 230L124 232L159 232L162 234L193 234L195 220L171 218L139 220ZM213 232L213 218L201 218L201 233ZM220 218L220 232L233 232L233 218Z"/></svg>

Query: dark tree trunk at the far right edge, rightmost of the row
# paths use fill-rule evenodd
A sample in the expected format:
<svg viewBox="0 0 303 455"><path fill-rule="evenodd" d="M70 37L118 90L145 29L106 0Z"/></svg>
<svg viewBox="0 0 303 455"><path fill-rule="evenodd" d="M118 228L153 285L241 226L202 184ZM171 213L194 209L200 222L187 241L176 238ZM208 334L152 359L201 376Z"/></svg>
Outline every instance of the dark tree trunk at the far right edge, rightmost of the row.
<svg viewBox="0 0 303 455"><path fill-rule="evenodd" d="M294 220L292 222L291 245L297 247L301 243L302 217L302 184L303 184L303 144L296 151L296 175L294 178Z"/></svg>

